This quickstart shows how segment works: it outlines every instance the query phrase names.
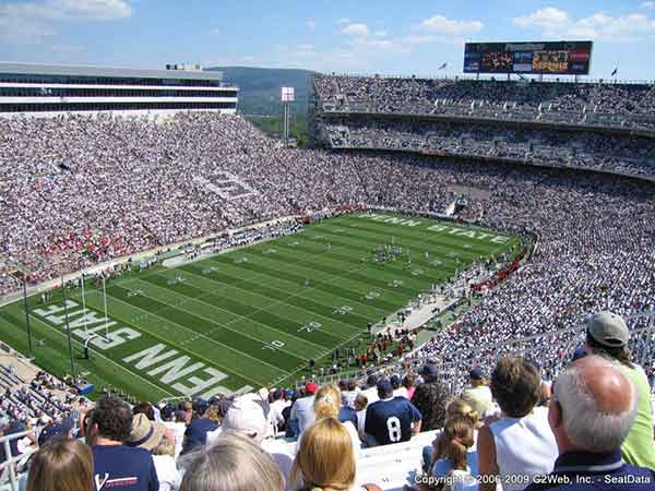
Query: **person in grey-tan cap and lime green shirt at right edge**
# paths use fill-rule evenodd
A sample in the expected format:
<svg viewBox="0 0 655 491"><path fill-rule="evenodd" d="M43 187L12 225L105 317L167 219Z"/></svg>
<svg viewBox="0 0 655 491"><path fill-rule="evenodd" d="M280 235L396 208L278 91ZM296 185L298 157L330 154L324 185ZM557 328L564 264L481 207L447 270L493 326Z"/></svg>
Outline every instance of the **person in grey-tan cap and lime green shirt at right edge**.
<svg viewBox="0 0 655 491"><path fill-rule="evenodd" d="M639 394L636 419L621 445L623 459L655 470L651 386L644 370L633 363L628 349L630 333L626 321L612 312L599 312L585 319L585 351L611 360L630 379Z"/></svg>

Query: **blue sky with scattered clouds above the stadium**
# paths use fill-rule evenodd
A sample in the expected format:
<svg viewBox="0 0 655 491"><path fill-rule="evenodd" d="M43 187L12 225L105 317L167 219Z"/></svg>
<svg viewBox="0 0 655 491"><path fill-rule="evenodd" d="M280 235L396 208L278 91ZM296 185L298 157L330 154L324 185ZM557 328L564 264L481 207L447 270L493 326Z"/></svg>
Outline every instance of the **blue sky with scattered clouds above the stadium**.
<svg viewBox="0 0 655 491"><path fill-rule="evenodd" d="M460 74L463 43L592 39L592 76L655 79L655 0L0 0L0 60Z"/></svg>

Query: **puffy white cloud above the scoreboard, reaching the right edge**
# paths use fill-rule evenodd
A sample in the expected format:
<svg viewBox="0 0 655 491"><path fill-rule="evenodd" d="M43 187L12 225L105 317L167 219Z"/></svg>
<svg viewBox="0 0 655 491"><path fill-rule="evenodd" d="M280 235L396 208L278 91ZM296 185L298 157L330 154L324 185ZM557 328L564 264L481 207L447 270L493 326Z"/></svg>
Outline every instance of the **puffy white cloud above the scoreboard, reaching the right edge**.
<svg viewBox="0 0 655 491"><path fill-rule="evenodd" d="M568 39L635 41L655 35L655 20L643 13L612 16L596 12L575 20L568 12L546 8L515 17L513 23L520 27L538 28L545 36Z"/></svg>

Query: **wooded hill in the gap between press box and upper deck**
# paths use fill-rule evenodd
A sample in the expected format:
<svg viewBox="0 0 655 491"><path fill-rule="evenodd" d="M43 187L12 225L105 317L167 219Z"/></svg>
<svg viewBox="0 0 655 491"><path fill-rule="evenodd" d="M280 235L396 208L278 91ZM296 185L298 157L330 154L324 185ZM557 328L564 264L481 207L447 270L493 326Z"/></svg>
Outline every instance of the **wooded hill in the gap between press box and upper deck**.
<svg viewBox="0 0 655 491"><path fill-rule="evenodd" d="M309 70L262 69L246 67L212 67L205 70L223 72L223 80L233 82L239 91L239 112L245 116L279 116L282 87L296 89L294 113L303 118L307 113L307 97L310 79Z"/></svg>

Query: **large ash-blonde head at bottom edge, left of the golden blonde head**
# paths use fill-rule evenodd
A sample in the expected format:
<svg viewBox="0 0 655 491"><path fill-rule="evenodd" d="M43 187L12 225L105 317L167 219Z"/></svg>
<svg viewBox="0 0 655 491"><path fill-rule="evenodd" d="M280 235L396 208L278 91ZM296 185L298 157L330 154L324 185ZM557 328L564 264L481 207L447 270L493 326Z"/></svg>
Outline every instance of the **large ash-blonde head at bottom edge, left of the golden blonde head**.
<svg viewBox="0 0 655 491"><path fill-rule="evenodd" d="M190 456L180 491L283 491L273 458L252 440L226 431L214 445Z"/></svg>

